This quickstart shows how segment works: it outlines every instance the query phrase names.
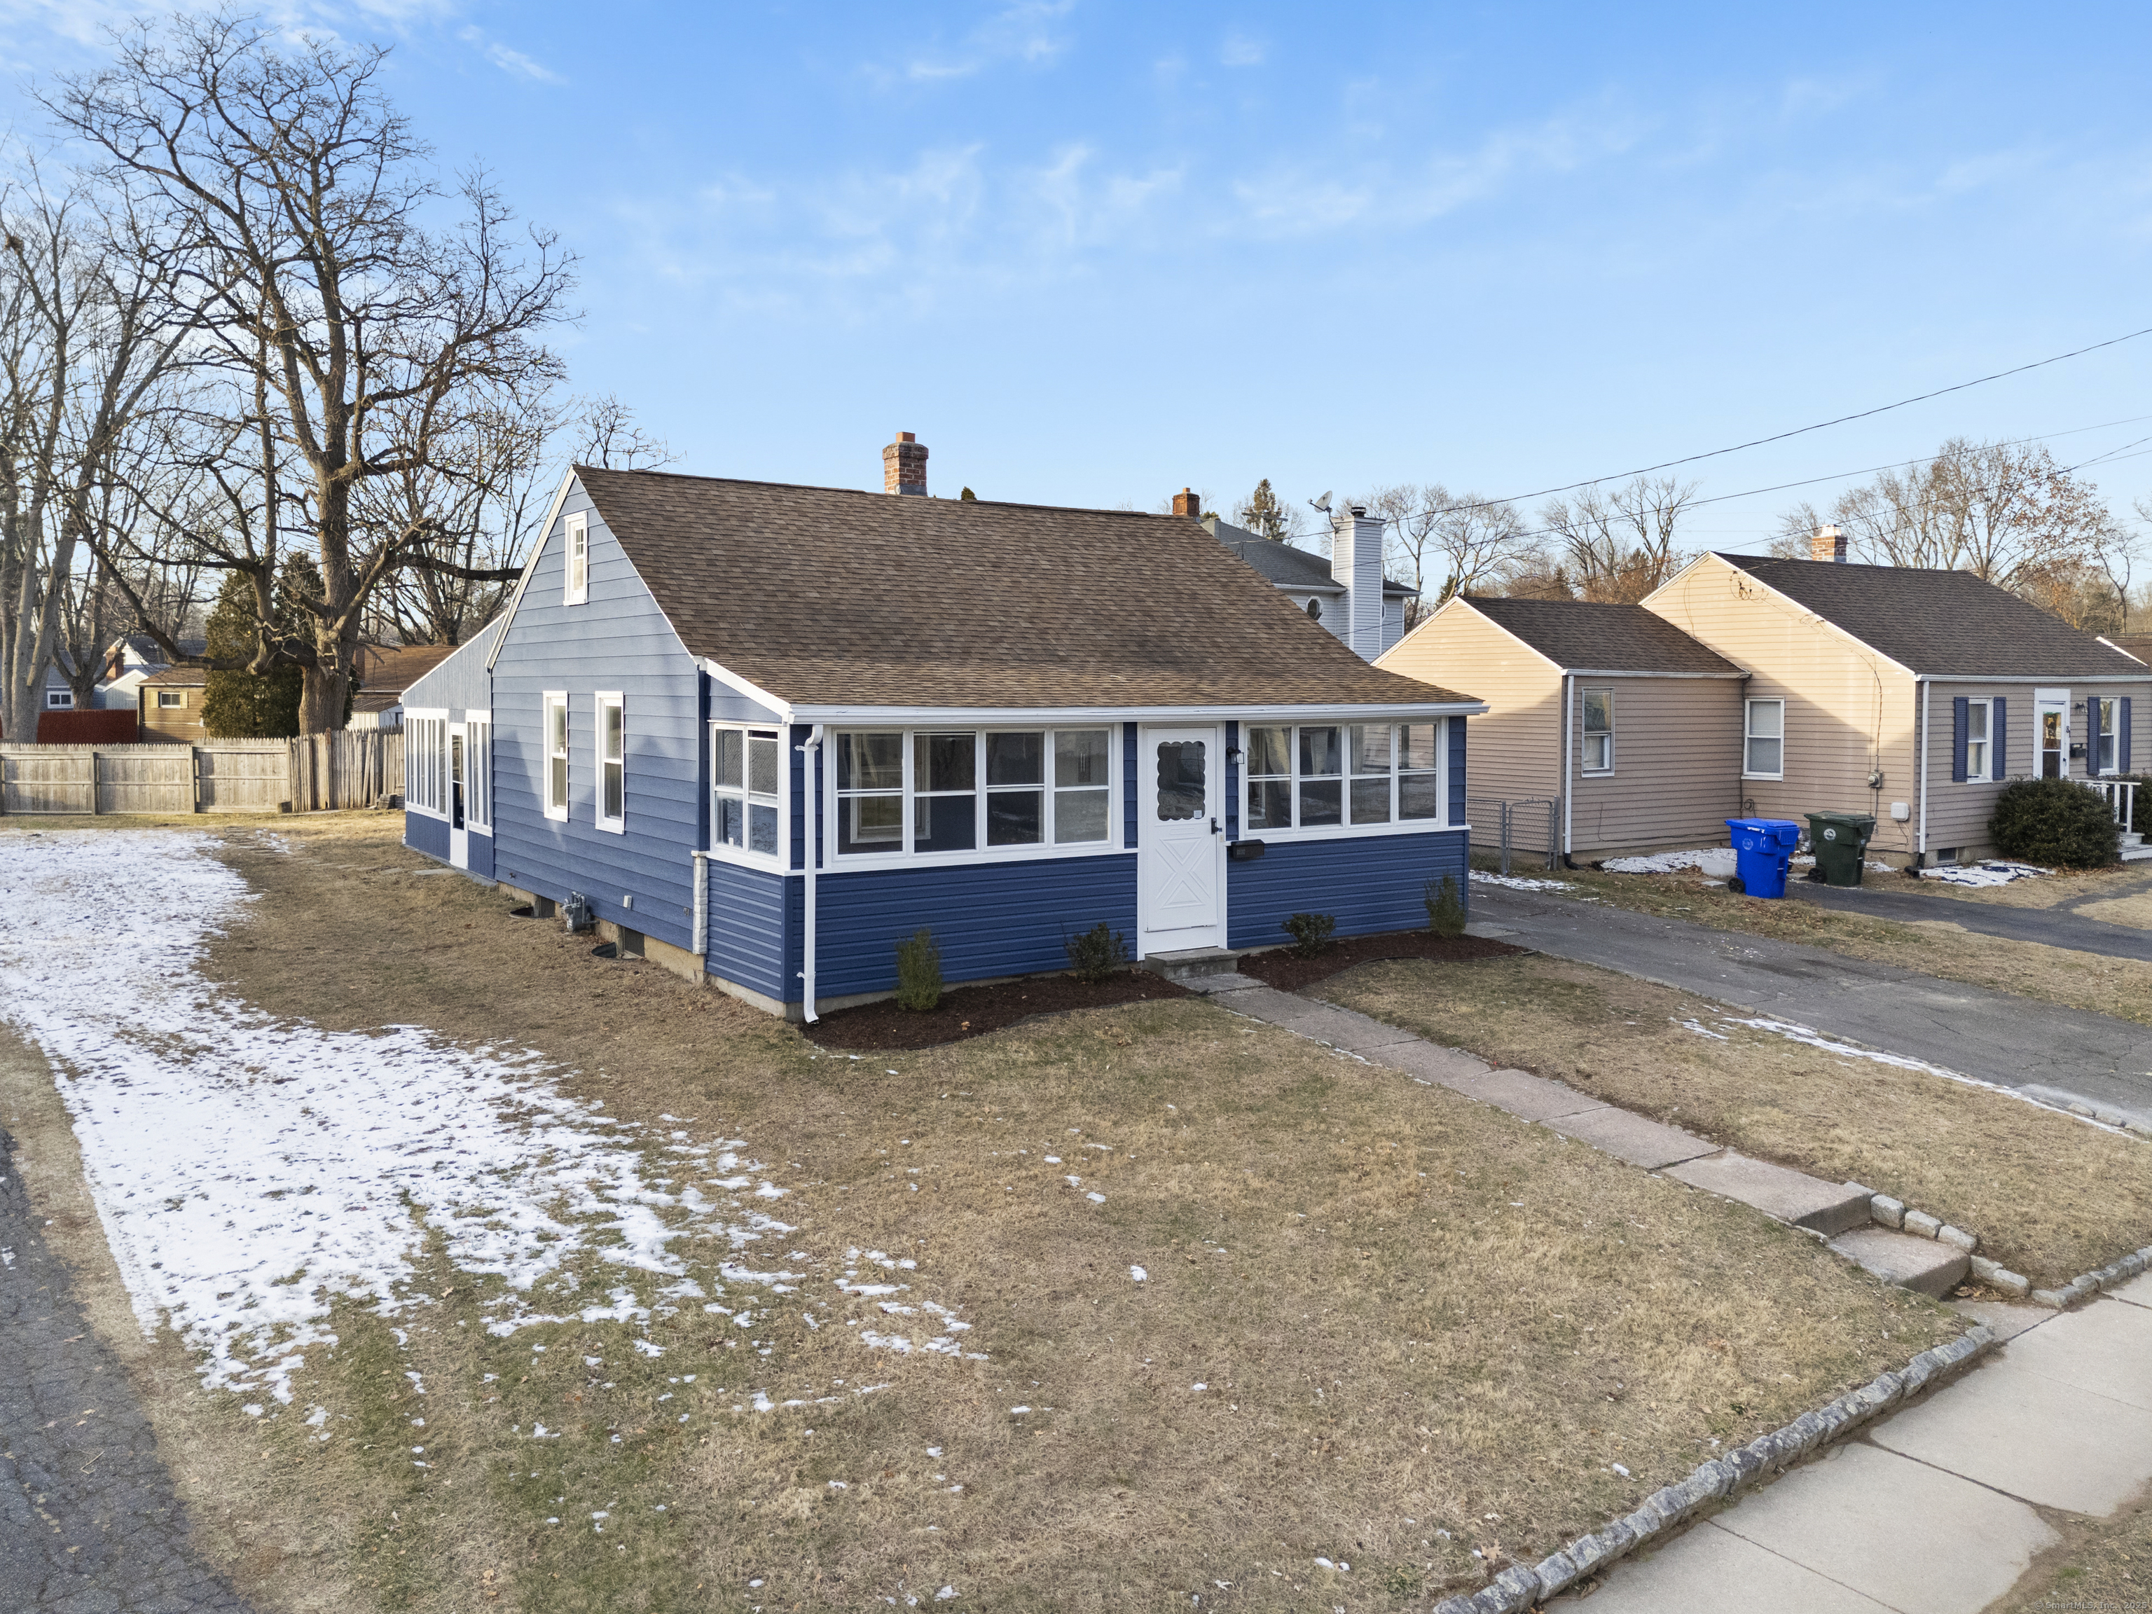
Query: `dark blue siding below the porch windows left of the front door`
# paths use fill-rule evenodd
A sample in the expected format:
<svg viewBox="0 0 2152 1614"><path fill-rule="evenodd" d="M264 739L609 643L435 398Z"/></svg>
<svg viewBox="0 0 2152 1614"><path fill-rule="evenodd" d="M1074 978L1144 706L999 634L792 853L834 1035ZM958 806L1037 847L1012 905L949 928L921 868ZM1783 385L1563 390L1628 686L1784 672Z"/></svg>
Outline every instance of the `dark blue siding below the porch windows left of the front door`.
<svg viewBox="0 0 2152 1614"><path fill-rule="evenodd" d="M792 887L794 915L805 882ZM816 994L891 992L897 943L921 925L940 943L943 979L1067 968L1065 940L1104 921L1136 934L1136 856L1031 859L932 869L824 872L816 884ZM798 958L801 925L790 925ZM712 968L717 962L712 958ZM798 962L792 964L798 968ZM760 990L760 988L758 988ZM785 999L798 999L798 981Z"/></svg>

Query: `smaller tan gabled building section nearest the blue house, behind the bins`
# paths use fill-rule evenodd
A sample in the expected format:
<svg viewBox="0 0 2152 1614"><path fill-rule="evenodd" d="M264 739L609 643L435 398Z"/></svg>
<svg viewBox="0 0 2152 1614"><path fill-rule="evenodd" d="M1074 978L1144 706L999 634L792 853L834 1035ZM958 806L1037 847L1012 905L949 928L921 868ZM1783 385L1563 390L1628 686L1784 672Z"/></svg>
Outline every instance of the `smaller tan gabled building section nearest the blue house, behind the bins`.
<svg viewBox="0 0 2152 1614"><path fill-rule="evenodd" d="M1573 859L1717 846L1741 811L1735 663L1642 605L1455 596L1375 665L1463 680L1472 844ZM1549 807L1554 809L1549 813Z"/></svg>

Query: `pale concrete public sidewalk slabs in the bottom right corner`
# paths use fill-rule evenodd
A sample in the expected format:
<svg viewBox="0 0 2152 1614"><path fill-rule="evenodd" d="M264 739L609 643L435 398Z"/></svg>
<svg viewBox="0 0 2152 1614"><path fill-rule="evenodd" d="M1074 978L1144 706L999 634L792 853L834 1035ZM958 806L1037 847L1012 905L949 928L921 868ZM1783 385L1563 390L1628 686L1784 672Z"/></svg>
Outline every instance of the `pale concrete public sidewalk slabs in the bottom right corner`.
<svg viewBox="0 0 2152 1614"><path fill-rule="evenodd" d="M1980 1315L2023 1330L1963 1379L1616 1565L1590 1614L1973 1614L2062 1541L2057 1524L2107 1519L2152 1483L2152 1274L2083 1311Z"/></svg>

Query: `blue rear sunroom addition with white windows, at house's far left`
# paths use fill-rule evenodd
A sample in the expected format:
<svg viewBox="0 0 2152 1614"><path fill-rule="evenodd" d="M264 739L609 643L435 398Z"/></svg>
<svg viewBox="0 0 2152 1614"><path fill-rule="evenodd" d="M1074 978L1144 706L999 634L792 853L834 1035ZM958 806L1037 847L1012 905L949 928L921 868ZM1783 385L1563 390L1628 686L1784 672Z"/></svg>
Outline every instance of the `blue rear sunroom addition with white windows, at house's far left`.
<svg viewBox="0 0 2152 1614"><path fill-rule="evenodd" d="M489 622L402 691L405 846L493 878L493 674Z"/></svg>

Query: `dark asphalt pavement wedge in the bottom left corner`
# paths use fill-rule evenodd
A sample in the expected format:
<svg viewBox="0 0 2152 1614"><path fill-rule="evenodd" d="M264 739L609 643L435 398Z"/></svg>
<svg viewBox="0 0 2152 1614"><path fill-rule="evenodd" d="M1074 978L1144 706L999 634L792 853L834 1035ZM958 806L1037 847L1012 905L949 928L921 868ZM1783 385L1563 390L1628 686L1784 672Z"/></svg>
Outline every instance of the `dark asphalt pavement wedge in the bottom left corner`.
<svg viewBox="0 0 2152 1614"><path fill-rule="evenodd" d="M245 1614L192 1552L118 1360L45 1248L0 1132L0 1608Z"/></svg>

